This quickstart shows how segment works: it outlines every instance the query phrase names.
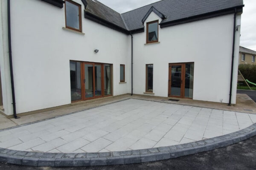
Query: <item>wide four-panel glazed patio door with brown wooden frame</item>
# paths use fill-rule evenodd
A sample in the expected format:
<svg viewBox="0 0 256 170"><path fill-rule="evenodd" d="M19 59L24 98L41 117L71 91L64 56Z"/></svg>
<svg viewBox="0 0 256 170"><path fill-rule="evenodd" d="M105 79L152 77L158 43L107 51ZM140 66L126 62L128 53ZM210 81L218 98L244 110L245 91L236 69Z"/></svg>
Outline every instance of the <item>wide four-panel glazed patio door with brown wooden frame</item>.
<svg viewBox="0 0 256 170"><path fill-rule="evenodd" d="M112 95L112 65L70 61L71 101Z"/></svg>

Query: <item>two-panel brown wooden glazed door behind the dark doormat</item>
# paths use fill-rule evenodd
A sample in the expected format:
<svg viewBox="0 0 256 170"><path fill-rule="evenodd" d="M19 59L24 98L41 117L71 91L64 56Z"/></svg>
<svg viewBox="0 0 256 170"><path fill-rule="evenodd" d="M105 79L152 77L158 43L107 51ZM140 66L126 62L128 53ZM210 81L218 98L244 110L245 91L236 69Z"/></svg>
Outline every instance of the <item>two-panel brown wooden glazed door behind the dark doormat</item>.
<svg viewBox="0 0 256 170"><path fill-rule="evenodd" d="M194 63L169 64L169 97L193 98Z"/></svg>

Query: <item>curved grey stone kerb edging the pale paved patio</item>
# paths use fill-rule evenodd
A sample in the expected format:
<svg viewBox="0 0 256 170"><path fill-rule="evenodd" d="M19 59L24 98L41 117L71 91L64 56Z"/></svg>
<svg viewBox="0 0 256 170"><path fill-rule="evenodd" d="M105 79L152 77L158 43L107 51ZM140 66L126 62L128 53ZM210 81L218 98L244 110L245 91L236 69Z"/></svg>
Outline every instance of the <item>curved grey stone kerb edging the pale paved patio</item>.
<svg viewBox="0 0 256 170"><path fill-rule="evenodd" d="M0 148L0 162L45 167L134 164L172 159L225 147L256 135L256 124L243 130L197 142L142 150L106 153L36 153Z"/></svg>

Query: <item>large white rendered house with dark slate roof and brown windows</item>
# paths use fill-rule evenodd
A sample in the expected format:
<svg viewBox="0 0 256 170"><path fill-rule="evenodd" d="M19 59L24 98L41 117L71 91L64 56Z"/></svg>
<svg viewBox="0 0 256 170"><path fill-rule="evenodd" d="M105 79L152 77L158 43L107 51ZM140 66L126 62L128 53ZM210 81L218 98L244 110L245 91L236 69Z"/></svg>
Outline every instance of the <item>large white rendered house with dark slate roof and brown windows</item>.
<svg viewBox="0 0 256 170"><path fill-rule="evenodd" d="M119 14L97 0L1 0L2 112L122 94L236 104L243 6L161 0Z"/></svg>

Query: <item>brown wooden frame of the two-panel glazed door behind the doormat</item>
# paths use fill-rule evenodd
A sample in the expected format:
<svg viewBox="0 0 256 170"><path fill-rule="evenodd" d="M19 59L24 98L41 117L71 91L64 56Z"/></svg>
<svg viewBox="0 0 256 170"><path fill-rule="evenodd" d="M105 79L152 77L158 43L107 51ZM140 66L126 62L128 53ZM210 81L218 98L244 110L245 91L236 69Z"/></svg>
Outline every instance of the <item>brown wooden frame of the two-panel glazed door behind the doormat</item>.
<svg viewBox="0 0 256 170"><path fill-rule="evenodd" d="M190 97L185 97L185 84L186 84L186 64L194 64L194 62L179 62L179 63L169 63L169 79L168 79L168 97L174 97L174 98L182 98L182 99L193 99ZM173 65L181 65L181 77L180 77L180 96L172 96L172 66ZM193 78L194 79L194 78ZM194 89L194 88L193 88Z"/></svg>

